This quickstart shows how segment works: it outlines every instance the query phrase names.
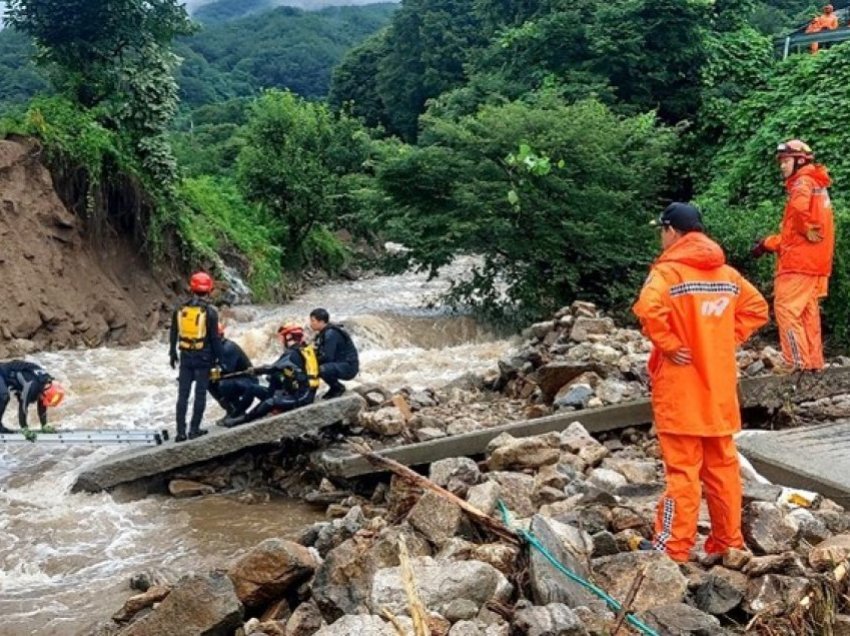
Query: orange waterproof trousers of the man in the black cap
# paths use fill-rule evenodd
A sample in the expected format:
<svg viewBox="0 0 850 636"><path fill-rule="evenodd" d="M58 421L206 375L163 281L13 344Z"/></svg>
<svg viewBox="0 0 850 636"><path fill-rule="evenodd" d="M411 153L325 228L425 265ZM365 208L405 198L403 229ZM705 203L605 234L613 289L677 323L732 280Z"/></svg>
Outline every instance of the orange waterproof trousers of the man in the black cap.
<svg viewBox="0 0 850 636"><path fill-rule="evenodd" d="M741 534L743 486L731 435L701 437L659 433L667 490L658 503L655 548L674 561L688 560L694 547L702 490L711 516L708 554L744 547Z"/></svg>

